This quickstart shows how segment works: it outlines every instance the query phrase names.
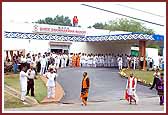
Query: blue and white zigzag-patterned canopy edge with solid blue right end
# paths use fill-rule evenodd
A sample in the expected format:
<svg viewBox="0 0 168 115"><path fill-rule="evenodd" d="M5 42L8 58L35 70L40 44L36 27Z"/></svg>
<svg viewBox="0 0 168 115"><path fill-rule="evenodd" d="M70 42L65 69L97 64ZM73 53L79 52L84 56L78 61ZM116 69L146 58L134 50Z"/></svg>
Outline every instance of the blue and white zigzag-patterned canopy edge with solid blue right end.
<svg viewBox="0 0 168 115"><path fill-rule="evenodd" d="M74 41L74 42L96 42L113 40L156 40L163 41L163 35L148 35L143 33L129 33L102 36L67 36L44 33L23 33L23 32L4 32L5 38L16 39L35 39L35 40L54 40L54 41Z"/></svg>

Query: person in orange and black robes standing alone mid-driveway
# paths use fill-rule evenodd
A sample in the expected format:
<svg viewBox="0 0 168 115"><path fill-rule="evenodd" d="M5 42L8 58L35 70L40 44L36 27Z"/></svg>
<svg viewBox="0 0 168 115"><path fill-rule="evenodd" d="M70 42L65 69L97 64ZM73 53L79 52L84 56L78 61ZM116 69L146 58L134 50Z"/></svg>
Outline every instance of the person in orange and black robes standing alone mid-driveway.
<svg viewBox="0 0 168 115"><path fill-rule="evenodd" d="M88 93L89 93L89 86L90 86L90 80L87 75L87 72L83 73L83 80L82 80L82 88L81 88L81 100L82 100L82 105L87 105L87 98L88 98Z"/></svg>

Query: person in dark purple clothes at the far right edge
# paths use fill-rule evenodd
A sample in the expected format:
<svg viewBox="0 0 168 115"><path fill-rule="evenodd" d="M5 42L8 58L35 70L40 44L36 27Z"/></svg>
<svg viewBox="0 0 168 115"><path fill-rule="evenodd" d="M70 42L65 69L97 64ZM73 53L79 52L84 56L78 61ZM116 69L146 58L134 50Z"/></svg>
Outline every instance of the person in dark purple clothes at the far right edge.
<svg viewBox="0 0 168 115"><path fill-rule="evenodd" d="M158 95L160 97L160 105L164 104L164 74L160 74L160 79L158 82L157 90L158 90Z"/></svg>

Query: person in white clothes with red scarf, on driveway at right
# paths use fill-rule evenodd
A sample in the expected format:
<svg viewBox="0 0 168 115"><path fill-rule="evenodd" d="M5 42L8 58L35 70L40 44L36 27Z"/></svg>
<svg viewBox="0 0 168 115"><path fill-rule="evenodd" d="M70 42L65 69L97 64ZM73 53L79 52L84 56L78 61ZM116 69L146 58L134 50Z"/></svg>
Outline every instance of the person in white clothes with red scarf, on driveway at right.
<svg viewBox="0 0 168 115"><path fill-rule="evenodd" d="M134 77L133 73L130 74L128 77L127 84L126 84L126 92L128 94L128 102L132 104L132 101L135 104L138 104L138 96L136 95L136 86L137 86L137 79Z"/></svg>

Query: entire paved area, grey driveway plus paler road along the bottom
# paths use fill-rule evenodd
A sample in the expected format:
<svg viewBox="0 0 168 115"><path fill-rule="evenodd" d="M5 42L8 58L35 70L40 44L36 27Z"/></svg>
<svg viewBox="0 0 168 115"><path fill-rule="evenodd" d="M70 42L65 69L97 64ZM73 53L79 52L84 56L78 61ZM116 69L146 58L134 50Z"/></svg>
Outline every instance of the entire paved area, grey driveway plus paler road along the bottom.
<svg viewBox="0 0 168 115"><path fill-rule="evenodd" d="M79 98L82 74L87 71L91 80L88 106L82 107ZM107 68L66 68L59 70L58 82L65 91L61 103L42 104L33 107L5 109L13 111L158 111L163 112L164 106L159 105L159 97L155 90L137 85L137 95L140 98L138 105L129 105L120 100L124 96L126 79L121 78L116 69Z"/></svg>

